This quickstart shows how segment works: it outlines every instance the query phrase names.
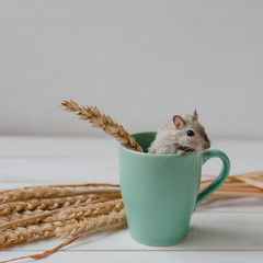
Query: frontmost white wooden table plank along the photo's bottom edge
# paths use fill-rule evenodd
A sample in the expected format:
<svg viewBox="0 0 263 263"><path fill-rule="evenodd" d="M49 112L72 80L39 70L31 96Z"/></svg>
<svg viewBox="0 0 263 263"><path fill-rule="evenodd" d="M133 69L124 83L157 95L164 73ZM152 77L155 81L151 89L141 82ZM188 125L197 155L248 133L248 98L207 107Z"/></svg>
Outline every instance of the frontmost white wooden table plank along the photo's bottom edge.
<svg viewBox="0 0 263 263"><path fill-rule="evenodd" d="M5 252L1 251L0 260L9 260L22 255L39 253L36 251ZM259 251L59 251L41 262L75 262L75 263L221 263L221 262L254 262L261 263L263 252ZM34 262L23 260L19 262Z"/></svg>

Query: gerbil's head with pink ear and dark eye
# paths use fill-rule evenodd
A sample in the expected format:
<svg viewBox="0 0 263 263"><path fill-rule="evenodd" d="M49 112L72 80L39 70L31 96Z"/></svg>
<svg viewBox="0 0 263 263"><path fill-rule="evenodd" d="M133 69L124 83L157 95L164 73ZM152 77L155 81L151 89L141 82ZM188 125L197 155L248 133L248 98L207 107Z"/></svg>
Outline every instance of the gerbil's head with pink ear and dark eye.
<svg viewBox="0 0 263 263"><path fill-rule="evenodd" d="M197 151L204 151L210 148L210 141L207 137L205 128L198 122L198 114L196 110L193 115L174 115L173 125L181 147Z"/></svg>

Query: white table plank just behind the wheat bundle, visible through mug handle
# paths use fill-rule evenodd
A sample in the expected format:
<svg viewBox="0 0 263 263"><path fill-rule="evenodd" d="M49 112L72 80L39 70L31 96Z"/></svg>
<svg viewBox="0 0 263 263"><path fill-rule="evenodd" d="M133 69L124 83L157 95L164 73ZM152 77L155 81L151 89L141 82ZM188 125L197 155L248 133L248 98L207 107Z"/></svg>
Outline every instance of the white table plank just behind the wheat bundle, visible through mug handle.
<svg viewBox="0 0 263 263"><path fill-rule="evenodd" d="M247 160L231 160L231 174L263 170L262 157L250 157ZM217 175L220 171L219 160L210 160L203 169L204 174ZM0 181L61 181L83 182L118 176L117 157L1 157ZM87 182L87 181L85 181ZM108 181L107 181L108 182Z"/></svg>

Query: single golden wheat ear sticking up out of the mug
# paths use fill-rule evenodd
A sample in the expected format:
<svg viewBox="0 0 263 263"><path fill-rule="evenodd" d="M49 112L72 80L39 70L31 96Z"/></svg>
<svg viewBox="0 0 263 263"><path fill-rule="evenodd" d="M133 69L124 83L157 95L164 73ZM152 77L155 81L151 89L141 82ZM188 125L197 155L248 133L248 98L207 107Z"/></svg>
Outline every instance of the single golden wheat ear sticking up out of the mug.
<svg viewBox="0 0 263 263"><path fill-rule="evenodd" d="M64 106L67 112L75 112L80 119L89 121L93 127L102 128L104 133L113 136L118 142L128 149L144 152L142 148L136 142L135 138L130 136L122 125L113 122L110 116L102 114L98 107L79 106L73 101L61 101L60 106Z"/></svg>

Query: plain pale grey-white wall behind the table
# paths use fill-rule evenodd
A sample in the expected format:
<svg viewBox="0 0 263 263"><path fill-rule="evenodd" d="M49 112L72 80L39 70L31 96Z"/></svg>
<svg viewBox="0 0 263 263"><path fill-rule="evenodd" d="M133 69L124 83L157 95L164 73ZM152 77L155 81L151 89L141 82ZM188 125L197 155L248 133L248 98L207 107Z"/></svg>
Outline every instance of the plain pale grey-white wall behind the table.
<svg viewBox="0 0 263 263"><path fill-rule="evenodd" d="M263 138L263 1L0 1L0 135L130 133L197 108L211 137Z"/></svg>

